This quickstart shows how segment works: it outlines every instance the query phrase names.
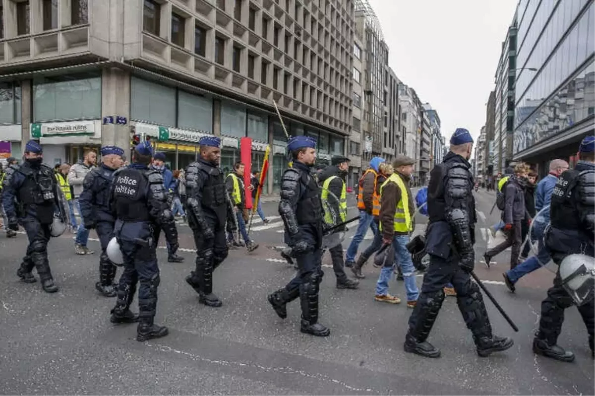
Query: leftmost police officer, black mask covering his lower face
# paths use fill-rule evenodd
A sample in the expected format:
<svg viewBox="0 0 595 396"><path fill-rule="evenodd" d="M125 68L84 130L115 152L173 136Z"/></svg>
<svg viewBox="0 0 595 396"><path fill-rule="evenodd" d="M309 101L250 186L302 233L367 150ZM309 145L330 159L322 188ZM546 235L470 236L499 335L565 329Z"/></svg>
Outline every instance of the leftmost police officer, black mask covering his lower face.
<svg viewBox="0 0 595 396"><path fill-rule="evenodd" d="M54 211L58 203L58 189L54 170L42 164L42 147L35 141L25 146L24 163L10 177L2 203L8 217L8 228L24 227L29 238L27 253L17 271L25 283L36 281L31 273L36 267L43 290L58 291L49 269L48 242Z"/></svg>

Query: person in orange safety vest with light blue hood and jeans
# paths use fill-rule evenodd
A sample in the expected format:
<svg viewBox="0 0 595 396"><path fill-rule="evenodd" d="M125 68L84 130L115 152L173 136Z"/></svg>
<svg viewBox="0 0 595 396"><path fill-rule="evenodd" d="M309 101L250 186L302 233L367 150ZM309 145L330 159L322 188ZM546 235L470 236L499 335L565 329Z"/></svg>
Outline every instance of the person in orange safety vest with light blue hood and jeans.
<svg viewBox="0 0 595 396"><path fill-rule="evenodd" d="M372 229L374 233L378 232L378 227L374 223L374 214L380 210L380 201L376 194L376 188L378 185L378 173L380 172L379 166L383 162L384 160L380 157L372 158L369 169L359 179L359 224L345 254L346 267L353 267L353 264L355 264L355 255L358 253L359 244L364 241L364 236L368 232L368 228Z"/></svg>

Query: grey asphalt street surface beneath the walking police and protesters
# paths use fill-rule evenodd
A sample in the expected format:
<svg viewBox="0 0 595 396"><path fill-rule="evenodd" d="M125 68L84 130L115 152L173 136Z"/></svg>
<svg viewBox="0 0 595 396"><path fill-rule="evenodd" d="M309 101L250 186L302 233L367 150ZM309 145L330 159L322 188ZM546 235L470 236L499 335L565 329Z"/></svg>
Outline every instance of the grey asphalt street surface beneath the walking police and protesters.
<svg viewBox="0 0 595 396"><path fill-rule="evenodd" d="M137 342L136 325L109 323L113 298L95 291L99 243L89 242L94 255L77 256L73 235L52 239L49 258L60 292L46 294L39 282L19 282L15 272L26 247L0 236L0 395L594 395L595 360L576 308L566 313L560 345L577 355L575 363L536 357L531 351L541 300L553 274L541 269L518 283L516 294L503 285L508 252L487 269L480 258L488 232L498 220L490 215L494 194L477 194L477 275L518 325L514 333L487 298L495 332L512 336L515 346L502 354L480 358L449 297L430 341L442 357L428 360L402 350L411 310L405 304L374 301L378 270L364 267L367 278L358 290L335 288L334 274L325 268L321 285L320 321L331 328L328 338L299 332L299 302L279 319L267 294L294 274L279 259L283 224L277 203L264 204L271 223L255 221L255 252L234 250L214 275L215 293L223 307L198 304L198 295L184 277L194 265L192 233L179 224L181 254L186 261L168 264L158 250L161 285L156 322L170 335ZM349 197L350 215L355 199ZM417 232L424 229L418 216ZM349 244L356 223L350 227ZM96 238L92 233L91 238ZM360 251L369 244L364 241ZM161 244L164 244L162 239ZM325 255L325 267L330 257ZM118 276L120 270L118 270ZM418 282L421 285L421 276ZM400 282L390 292L404 299ZM136 302L133 310L137 311Z"/></svg>

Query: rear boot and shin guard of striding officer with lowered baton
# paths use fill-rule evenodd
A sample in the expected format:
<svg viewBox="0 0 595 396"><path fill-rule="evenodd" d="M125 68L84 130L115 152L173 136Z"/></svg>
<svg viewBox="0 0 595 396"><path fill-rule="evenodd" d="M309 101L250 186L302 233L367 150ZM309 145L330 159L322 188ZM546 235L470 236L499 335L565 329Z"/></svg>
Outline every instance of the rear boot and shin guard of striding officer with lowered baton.
<svg viewBox="0 0 595 396"><path fill-rule="evenodd" d="M409 330L405 336L403 350L424 357L440 357L440 350L426 341L436 322L440 307L444 301L444 291L419 295L414 311L409 318Z"/></svg>

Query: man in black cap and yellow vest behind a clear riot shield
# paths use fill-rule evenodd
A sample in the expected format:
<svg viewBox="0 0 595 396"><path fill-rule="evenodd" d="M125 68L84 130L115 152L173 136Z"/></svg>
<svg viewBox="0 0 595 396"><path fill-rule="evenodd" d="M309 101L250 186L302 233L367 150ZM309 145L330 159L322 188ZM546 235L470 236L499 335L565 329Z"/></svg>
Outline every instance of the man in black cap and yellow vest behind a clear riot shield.
<svg viewBox="0 0 595 396"><path fill-rule="evenodd" d="M349 170L349 158L343 155L334 156L331 166L327 166L318 176L322 183L322 205L325 208L324 222L328 226L336 226L347 220L347 189L345 176ZM344 231L340 227L338 231ZM343 263L343 246L336 245L328 250L333 259L333 270L337 277L337 289L356 289L359 281L349 279L345 273Z"/></svg>

